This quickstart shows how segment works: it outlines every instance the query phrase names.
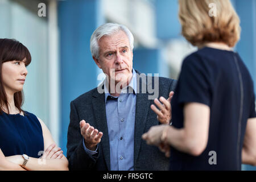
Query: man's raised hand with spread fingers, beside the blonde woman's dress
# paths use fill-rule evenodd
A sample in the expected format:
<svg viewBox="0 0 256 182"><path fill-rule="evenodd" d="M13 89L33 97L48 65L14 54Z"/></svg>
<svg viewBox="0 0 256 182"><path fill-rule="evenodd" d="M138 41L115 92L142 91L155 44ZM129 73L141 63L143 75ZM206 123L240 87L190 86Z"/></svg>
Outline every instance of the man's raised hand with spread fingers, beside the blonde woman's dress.
<svg viewBox="0 0 256 182"><path fill-rule="evenodd" d="M150 107L151 109L158 115L157 119L160 123L162 124L169 124L171 121L171 115L172 115L172 110L171 110L171 99L172 96L174 96L174 92L170 92L168 99L166 100L164 97L160 97L159 100L155 98L154 103L156 106L158 106L158 109L154 104L152 104Z"/></svg>

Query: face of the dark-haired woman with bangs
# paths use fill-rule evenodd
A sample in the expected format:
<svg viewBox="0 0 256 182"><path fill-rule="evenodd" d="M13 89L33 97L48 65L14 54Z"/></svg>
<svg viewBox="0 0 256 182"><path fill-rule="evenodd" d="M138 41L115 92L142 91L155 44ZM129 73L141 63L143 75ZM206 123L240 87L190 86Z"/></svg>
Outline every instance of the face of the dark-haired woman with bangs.
<svg viewBox="0 0 256 182"><path fill-rule="evenodd" d="M7 61L2 64L2 79L5 92L22 91L27 76L25 61Z"/></svg>

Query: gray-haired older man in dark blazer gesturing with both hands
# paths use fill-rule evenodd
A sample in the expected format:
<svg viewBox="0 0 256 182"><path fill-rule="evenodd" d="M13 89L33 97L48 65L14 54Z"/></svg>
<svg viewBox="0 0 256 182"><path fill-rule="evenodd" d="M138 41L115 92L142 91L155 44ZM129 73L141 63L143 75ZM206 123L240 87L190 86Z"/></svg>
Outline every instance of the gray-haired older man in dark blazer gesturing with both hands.
<svg viewBox="0 0 256 182"><path fill-rule="evenodd" d="M71 102L67 143L71 170L168 169L166 156L141 136L159 122L170 122L176 81L135 71L133 41L121 24L103 24L92 34L92 57L106 78Z"/></svg>

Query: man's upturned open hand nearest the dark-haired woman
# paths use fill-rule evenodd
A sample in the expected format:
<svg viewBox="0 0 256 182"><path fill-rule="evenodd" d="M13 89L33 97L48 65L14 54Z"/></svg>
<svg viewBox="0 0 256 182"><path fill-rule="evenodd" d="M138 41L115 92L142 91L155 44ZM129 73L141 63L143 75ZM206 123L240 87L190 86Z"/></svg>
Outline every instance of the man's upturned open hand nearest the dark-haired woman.
<svg viewBox="0 0 256 182"><path fill-rule="evenodd" d="M86 148L95 151L97 144L101 141L103 133L98 132L97 129L94 129L93 126L86 123L84 119L80 121L80 131L82 137L84 137L84 144Z"/></svg>

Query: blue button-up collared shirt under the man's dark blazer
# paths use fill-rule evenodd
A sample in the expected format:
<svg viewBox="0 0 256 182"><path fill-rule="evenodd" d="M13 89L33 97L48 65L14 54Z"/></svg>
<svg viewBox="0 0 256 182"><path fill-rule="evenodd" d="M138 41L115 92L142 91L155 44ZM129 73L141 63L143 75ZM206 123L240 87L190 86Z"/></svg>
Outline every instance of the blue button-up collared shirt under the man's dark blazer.
<svg viewBox="0 0 256 182"><path fill-rule="evenodd" d="M137 98L137 74L135 70L133 69L133 78L129 85L122 89L119 97L110 95L106 80L104 82L104 92L110 145L110 170L133 171ZM97 149L96 151L90 151L85 147L85 144L84 148L90 155L97 153Z"/></svg>

